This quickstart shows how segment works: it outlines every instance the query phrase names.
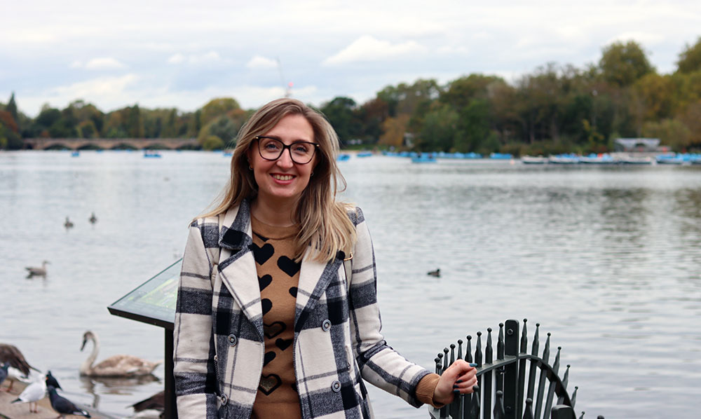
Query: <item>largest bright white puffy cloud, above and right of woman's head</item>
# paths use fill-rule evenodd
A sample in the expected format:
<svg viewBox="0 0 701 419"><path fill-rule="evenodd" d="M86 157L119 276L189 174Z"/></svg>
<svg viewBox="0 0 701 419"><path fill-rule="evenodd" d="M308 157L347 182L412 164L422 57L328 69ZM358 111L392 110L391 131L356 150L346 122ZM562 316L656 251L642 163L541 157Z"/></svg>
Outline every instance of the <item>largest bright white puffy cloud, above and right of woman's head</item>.
<svg viewBox="0 0 701 419"><path fill-rule="evenodd" d="M403 43L389 43L381 41L369 35L363 35L343 48L338 53L328 57L322 62L323 65L333 66L348 64L351 62L383 61L397 57L423 54L427 48L416 41Z"/></svg>

